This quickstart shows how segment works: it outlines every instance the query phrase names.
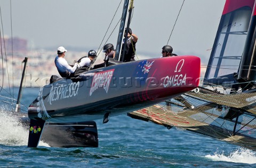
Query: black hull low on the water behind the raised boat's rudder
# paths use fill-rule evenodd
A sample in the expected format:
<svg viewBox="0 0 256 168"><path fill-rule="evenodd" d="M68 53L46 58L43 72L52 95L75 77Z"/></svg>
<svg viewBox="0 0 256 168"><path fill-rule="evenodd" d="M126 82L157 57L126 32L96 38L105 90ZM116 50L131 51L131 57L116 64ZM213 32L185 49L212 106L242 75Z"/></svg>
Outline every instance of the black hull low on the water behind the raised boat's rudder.
<svg viewBox="0 0 256 168"><path fill-rule="evenodd" d="M28 117L20 117L20 120L24 127L29 127ZM50 147L98 147L97 124L94 121L46 123L41 141Z"/></svg>

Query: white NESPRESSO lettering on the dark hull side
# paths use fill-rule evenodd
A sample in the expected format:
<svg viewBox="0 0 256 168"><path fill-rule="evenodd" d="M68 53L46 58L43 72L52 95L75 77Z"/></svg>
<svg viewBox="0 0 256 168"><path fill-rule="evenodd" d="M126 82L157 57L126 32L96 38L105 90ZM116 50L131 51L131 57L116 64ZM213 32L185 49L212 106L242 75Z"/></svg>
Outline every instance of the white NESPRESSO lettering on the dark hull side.
<svg viewBox="0 0 256 168"><path fill-rule="evenodd" d="M48 102L52 105L53 101L75 97L78 94L79 82L72 82L59 86L52 86Z"/></svg>

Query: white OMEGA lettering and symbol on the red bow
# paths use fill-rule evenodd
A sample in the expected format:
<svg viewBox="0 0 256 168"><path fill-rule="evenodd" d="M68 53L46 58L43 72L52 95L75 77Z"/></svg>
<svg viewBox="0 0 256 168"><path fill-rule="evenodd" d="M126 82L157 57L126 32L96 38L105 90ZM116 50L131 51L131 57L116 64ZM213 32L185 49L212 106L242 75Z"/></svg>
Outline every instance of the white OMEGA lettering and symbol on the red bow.
<svg viewBox="0 0 256 168"><path fill-rule="evenodd" d="M165 77L164 87L186 85L187 74L182 74L181 72L184 62L185 60L182 59L177 63L174 73L178 73L178 74Z"/></svg>

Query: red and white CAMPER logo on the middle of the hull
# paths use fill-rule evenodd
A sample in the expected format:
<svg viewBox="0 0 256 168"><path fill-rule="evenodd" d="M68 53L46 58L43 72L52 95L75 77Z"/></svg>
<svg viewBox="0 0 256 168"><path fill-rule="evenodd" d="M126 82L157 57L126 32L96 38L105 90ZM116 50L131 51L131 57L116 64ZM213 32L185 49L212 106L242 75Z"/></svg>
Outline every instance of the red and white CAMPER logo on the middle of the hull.
<svg viewBox="0 0 256 168"><path fill-rule="evenodd" d="M114 74L115 69L106 70L100 73L97 73L93 76L92 85L90 89L90 95L100 87L108 93L109 85Z"/></svg>

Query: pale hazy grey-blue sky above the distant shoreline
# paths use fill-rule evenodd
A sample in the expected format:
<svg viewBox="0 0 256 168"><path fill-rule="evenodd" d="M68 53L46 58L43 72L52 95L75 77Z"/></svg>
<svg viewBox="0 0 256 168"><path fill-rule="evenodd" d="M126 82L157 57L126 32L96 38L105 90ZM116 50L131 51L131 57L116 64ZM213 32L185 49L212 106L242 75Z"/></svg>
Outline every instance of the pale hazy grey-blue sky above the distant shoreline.
<svg viewBox="0 0 256 168"><path fill-rule="evenodd" d="M182 2L134 1L130 28L139 37L139 59L161 57ZM120 4L103 40L103 44L116 46L119 25L110 34L121 18L123 3L124 0L0 0L1 34L26 38L30 48L57 50L65 46L67 50L97 51ZM185 0L168 43L173 53L196 55L207 64L224 4L225 0Z"/></svg>

